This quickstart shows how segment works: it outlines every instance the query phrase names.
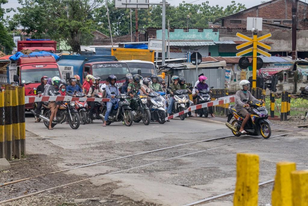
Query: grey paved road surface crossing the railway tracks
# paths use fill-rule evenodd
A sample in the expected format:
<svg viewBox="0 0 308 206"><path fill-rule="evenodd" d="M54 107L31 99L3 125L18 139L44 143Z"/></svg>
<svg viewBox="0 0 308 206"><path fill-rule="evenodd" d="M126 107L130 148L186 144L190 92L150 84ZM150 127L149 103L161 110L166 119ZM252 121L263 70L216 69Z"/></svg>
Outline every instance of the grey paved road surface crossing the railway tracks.
<svg viewBox="0 0 308 206"><path fill-rule="evenodd" d="M26 130L33 133L27 141L27 153L46 154L47 159L56 159L53 163L55 169L65 169L167 146L231 135L224 123L217 120L221 118L187 118L184 121L175 118L163 125L151 123L145 126L142 123L134 123L131 127L126 127L122 123L114 123L105 128L96 120L94 124L81 125L78 130L72 130L69 125L62 124L56 125L54 130L50 131L43 123L34 123L34 118L27 116ZM274 131L273 135L288 131ZM102 191L108 188L116 199L125 196L139 204L182 205L234 190L238 152L257 153L260 156L260 182L274 178L275 164L278 161L294 161L297 162L298 168L308 168L307 136L307 132L301 132L243 144L234 143L256 138L231 137L70 170L65 174L78 175L79 178L95 175L87 188L99 188ZM225 147L156 162L223 145ZM118 174L102 175L152 162L156 163ZM260 188L260 205L270 203L271 188L271 184ZM75 193L71 194L73 195L70 198L78 199ZM59 192L55 191L53 195L59 195ZM88 195L88 198L92 197L91 194ZM104 199L105 195L104 192L96 194L101 199ZM92 204L94 205L93 202L90 204L86 201L82 205ZM232 196L204 205L232 205Z"/></svg>

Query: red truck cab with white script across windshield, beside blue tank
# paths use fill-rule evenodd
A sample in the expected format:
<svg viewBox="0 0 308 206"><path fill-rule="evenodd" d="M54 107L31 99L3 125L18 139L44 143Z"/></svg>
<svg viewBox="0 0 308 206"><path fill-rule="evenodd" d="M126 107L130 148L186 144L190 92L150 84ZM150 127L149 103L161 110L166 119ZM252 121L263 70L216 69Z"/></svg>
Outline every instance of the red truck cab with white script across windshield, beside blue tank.
<svg viewBox="0 0 308 206"><path fill-rule="evenodd" d="M83 67L83 74L92 74L101 78L100 86L106 86L106 79L114 74L117 77L116 86L122 86L125 82L126 74L130 73L128 65L119 61L97 61L86 63Z"/></svg>

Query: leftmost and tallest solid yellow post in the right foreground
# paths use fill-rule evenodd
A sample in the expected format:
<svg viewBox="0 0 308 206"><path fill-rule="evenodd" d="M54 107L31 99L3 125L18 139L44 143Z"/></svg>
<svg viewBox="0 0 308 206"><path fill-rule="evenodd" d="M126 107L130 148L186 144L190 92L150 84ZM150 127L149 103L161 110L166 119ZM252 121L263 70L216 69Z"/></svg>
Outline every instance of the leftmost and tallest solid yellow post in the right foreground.
<svg viewBox="0 0 308 206"><path fill-rule="evenodd" d="M234 206L257 206L259 188L259 156L237 153Z"/></svg>

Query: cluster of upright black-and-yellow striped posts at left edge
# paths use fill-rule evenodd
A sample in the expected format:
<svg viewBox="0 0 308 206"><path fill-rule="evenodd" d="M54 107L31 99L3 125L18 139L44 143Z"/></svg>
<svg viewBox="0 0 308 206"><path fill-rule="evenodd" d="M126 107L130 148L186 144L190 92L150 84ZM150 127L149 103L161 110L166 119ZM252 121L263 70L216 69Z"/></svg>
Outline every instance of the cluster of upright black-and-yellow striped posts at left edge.
<svg viewBox="0 0 308 206"><path fill-rule="evenodd" d="M5 85L0 91L0 158L21 158L25 153L25 90Z"/></svg>

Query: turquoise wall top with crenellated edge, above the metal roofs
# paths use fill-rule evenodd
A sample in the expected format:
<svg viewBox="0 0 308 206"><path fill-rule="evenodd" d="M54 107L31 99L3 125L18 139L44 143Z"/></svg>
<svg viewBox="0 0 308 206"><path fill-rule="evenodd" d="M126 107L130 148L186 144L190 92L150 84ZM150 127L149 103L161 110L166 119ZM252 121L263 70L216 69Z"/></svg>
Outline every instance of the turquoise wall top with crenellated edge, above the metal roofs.
<svg viewBox="0 0 308 206"><path fill-rule="evenodd" d="M156 38L162 39L162 30L156 31ZM166 29L166 39L168 38L168 30ZM204 29L199 32L198 29L189 29L184 32L183 29L174 29L170 32L170 40L213 40L219 41L219 32L213 32L213 29Z"/></svg>

